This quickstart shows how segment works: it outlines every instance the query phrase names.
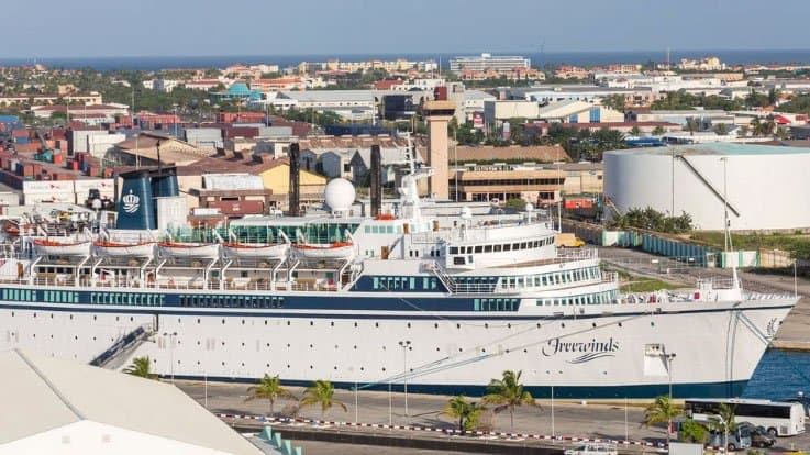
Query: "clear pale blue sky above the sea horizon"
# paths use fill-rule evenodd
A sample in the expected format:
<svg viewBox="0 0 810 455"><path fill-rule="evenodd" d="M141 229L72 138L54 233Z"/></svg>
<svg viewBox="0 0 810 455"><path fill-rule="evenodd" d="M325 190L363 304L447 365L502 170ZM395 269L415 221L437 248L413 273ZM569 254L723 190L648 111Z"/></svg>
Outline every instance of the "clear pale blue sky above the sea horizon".
<svg viewBox="0 0 810 455"><path fill-rule="evenodd" d="M0 58L801 49L809 13L810 0L25 0L3 4Z"/></svg>

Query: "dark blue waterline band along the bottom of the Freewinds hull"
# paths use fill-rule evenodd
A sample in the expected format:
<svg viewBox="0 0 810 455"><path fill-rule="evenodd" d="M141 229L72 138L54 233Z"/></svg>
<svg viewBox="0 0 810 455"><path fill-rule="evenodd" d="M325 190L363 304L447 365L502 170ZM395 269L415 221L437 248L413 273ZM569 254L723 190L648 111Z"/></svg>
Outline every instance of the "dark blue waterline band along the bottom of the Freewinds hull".
<svg viewBox="0 0 810 455"><path fill-rule="evenodd" d="M167 376L168 377L168 376ZM201 376L175 376L176 379L202 380ZM208 377L209 381L217 382L244 382L255 384L256 379L252 378L230 378L230 377ZM311 381L306 380L285 380L286 385L308 387ZM333 382L336 388L354 390L354 382ZM694 384L673 384L673 397L675 398L735 398L740 397L745 390L747 380L728 381L728 382L694 382ZM359 390L377 390L387 391L388 384L359 384ZM391 384L391 390L396 392L402 391L402 384ZM548 386L526 386L526 390L534 398L547 399L552 396L552 389ZM431 384L408 384L408 391L413 393L426 395L464 395L467 397L480 397L487 393L486 386L452 386L452 385L431 385ZM654 398L669 393L668 384L652 384L636 386L554 386L554 398L567 399L624 399L624 398Z"/></svg>

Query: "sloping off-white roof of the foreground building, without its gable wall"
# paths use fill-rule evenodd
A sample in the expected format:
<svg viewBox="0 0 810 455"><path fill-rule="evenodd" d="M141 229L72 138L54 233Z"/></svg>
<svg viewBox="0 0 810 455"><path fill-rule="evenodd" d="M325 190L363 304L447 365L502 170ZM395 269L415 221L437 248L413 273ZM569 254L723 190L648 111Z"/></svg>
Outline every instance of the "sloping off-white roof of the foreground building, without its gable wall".
<svg viewBox="0 0 810 455"><path fill-rule="evenodd" d="M0 444L92 421L231 454L256 448L173 385L13 349L0 353Z"/></svg>

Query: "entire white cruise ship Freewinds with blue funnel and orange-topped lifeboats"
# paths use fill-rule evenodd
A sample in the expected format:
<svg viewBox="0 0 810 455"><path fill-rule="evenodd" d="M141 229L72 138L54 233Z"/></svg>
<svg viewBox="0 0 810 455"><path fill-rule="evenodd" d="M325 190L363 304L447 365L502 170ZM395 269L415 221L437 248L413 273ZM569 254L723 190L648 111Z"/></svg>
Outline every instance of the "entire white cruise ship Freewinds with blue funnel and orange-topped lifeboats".
<svg viewBox="0 0 810 455"><path fill-rule="evenodd" d="M373 190L369 213L334 179L321 211L222 229L160 220L170 168L122 174L115 229L7 226L0 348L148 356L188 379L475 396L520 370L535 397L734 397L797 301L736 274L622 295L596 249L555 246L540 210L441 214L420 200L425 174L411 163L399 199Z"/></svg>

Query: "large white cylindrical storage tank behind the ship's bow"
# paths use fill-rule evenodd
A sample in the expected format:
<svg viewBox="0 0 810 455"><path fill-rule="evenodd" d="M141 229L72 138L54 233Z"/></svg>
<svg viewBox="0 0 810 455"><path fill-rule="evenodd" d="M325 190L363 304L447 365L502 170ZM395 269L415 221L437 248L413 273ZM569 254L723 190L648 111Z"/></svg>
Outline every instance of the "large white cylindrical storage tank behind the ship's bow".
<svg viewBox="0 0 810 455"><path fill-rule="evenodd" d="M810 148L698 144L604 153L608 215L651 207L698 230L810 228Z"/></svg>

